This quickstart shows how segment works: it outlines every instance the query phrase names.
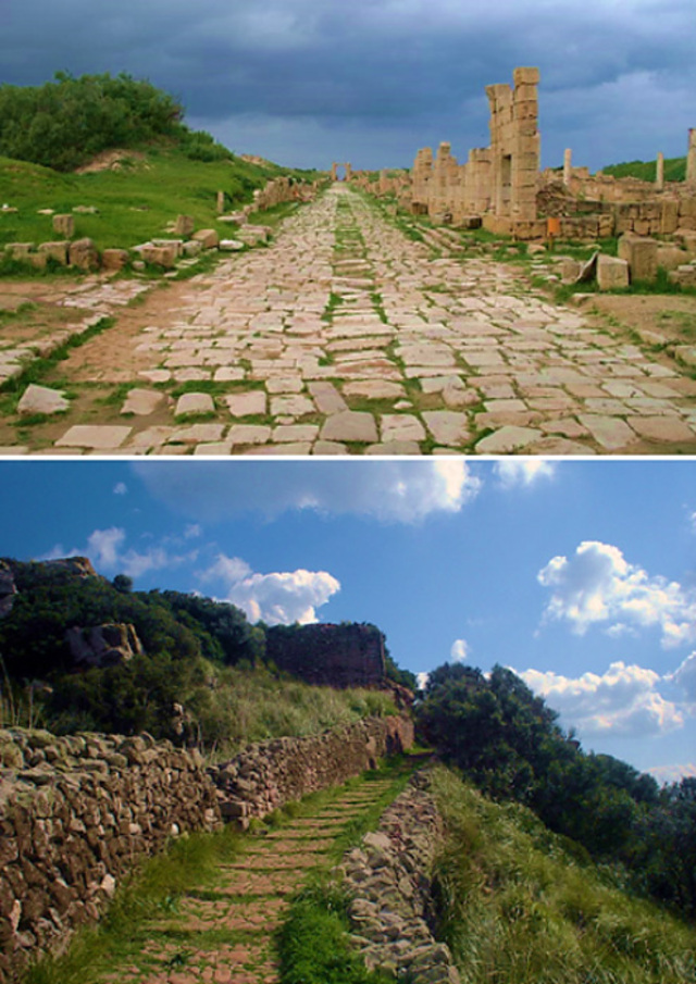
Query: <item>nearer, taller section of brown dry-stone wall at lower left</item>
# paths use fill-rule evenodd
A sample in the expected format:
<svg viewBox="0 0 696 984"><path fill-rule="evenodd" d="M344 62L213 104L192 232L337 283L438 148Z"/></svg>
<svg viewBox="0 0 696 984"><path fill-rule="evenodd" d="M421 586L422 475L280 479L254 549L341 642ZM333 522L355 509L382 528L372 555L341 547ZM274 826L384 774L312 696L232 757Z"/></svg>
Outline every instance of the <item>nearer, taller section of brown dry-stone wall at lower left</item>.
<svg viewBox="0 0 696 984"><path fill-rule="evenodd" d="M220 826L197 752L149 736L0 731L0 981L97 919L124 874Z"/></svg>

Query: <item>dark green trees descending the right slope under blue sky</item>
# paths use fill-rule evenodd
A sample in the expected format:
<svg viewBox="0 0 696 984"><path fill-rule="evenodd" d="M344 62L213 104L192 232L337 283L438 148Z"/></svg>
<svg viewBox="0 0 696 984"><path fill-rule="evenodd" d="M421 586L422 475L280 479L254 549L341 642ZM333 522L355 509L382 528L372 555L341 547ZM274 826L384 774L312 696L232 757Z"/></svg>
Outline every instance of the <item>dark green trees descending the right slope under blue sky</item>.
<svg viewBox="0 0 696 984"><path fill-rule="evenodd" d="M510 670L445 665L418 708L421 738L498 800L533 809L551 831L635 888L696 917L696 781L660 790L611 756L587 755L557 713Z"/></svg>

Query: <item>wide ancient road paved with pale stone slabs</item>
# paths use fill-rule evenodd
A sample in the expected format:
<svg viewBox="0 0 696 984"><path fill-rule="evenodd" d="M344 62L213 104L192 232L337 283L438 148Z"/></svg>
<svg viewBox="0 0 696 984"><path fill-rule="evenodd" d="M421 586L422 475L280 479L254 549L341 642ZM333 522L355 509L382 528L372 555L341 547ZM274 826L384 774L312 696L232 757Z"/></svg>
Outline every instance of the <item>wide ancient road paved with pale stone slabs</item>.
<svg viewBox="0 0 696 984"><path fill-rule="evenodd" d="M151 291L60 378L70 409L4 452L696 448L683 369L551 303L509 264L437 258L344 185L290 215L269 248Z"/></svg>

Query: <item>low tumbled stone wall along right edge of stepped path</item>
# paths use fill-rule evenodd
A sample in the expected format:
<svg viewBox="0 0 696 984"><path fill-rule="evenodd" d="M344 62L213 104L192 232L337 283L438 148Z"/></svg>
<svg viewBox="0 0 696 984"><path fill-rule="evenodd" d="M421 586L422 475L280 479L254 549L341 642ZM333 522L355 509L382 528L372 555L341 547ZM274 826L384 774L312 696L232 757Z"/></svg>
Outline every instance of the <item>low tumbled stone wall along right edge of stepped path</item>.
<svg viewBox="0 0 696 984"><path fill-rule="evenodd" d="M403 974L412 984L459 984L449 948L432 931L432 870L443 822L428 787L427 772L417 773L380 830L345 856L351 938L370 970Z"/></svg>

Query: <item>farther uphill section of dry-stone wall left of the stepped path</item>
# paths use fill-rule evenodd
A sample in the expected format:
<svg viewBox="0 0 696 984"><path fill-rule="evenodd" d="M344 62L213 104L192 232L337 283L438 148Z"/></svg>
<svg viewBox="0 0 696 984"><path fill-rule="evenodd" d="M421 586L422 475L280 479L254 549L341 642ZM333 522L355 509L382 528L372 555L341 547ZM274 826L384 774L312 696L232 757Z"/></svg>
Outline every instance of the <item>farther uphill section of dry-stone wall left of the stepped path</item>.
<svg viewBox="0 0 696 984"><path fill-rule="evenodd" d="M413 744L409 718L366 718L300 738L262 742L210 769L222 815L243 829L308 793L345 783Z"/></svg>

